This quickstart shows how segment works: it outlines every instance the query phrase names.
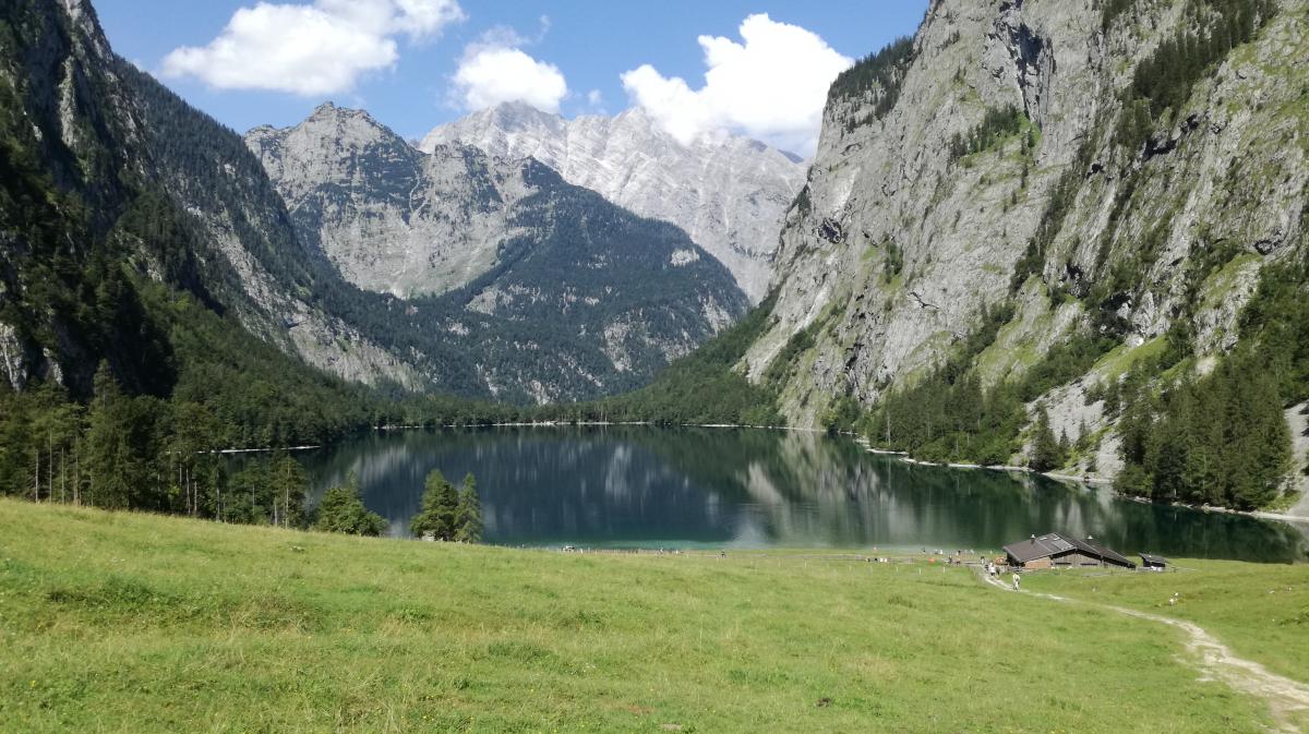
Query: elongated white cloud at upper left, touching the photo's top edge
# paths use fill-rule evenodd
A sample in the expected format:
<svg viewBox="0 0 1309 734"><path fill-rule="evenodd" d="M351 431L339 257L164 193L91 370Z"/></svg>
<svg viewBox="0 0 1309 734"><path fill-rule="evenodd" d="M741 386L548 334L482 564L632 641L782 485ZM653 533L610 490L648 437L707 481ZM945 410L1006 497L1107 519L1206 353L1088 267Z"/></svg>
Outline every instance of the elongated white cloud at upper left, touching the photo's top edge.
<svg viewBox="0 0 1309 734"><path fill-rule="evenodd" d="M457 0L258 3L240 8L207 46L165 56L162 72L217 89L350 92L361 75L395 64L395 37L420 41L462 18Z"/></svg>

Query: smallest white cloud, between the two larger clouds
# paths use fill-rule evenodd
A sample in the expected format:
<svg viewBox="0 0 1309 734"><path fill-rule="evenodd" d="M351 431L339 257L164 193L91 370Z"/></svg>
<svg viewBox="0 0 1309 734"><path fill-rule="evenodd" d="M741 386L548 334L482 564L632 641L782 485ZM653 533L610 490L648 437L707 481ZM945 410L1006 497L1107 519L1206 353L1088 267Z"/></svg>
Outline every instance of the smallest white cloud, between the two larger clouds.
<svg viewBox="0 0 1309 734"><path fill-rule="evenodd" d="M548 27L542 18L542 33ZM554 64L538 61L518 48L529 43L507 29L493 29L463 51L454 72L456 103L476 111L501 102L526 102L546 113L558 113L568 96L568 80Z"/></svg>

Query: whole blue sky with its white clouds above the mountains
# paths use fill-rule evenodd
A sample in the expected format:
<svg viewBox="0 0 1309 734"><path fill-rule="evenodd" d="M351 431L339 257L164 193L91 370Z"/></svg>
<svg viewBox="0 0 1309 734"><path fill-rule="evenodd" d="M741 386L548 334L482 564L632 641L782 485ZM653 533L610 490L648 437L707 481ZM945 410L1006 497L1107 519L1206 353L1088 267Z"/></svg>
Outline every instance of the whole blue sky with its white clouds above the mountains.
<svg viewBox="0 0 1309 734"><path fill-rule="evenodd" d="M326 101L404 137L505 101L640 105L683 141L813 152L831 80L927 0L98 0L119 55L243 132Z"/></svg>

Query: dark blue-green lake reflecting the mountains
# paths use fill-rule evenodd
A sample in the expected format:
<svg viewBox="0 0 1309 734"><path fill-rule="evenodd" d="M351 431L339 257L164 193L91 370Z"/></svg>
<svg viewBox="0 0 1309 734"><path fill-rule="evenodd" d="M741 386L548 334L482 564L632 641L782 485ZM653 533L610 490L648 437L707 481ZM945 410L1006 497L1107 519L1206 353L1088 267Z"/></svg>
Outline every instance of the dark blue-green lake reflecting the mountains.
<svg viewBox="0 0 1309 734"><path fill-rule="evenodd" d="M387 432L301 454L314 497L359 475L407 535L423 479L473 472L486 542L592 548L994 551L1031 534L1135 553L1292 561L1305 529L988 470L925 467L814 433L648 427Z"/></svg>

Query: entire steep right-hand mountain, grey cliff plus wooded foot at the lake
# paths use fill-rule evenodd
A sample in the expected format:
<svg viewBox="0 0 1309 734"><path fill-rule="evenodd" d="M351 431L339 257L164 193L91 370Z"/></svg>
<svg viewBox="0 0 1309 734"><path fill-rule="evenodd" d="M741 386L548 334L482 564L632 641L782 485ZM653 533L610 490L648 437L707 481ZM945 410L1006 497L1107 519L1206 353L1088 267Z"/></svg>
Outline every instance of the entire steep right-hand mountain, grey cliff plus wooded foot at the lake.
<svg viewBox="0 0 1309 734"><path fill-rule="evenodd" d="M1309 399L1306 33L1302 0L935 0L833 85L745 369L920 457L1268 501Z"/></svg>

